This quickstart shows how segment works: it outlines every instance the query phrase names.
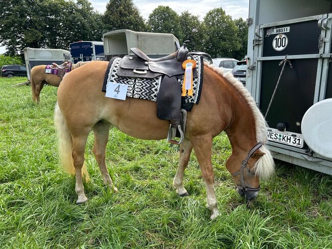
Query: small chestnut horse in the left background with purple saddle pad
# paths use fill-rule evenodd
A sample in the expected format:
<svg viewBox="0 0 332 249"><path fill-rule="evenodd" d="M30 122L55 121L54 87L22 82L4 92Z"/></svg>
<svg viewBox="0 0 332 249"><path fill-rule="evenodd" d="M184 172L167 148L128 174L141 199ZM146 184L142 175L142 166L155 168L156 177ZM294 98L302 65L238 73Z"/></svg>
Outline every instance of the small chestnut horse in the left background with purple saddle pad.
<svg viewBox="0 0 332 249"><path fill-rule="evenodd" d="M90 61L86 61L86 62L80 61L76 64L73 64L72 70L74 70L75 68L78 68L79 66L82 66L88 62L90 62ZM61 66L65 65L65 64L66 64L66 62L61 64ZM34 66L31 69L32 99L34 102L37 102L37 103L39 103L39 94L40 94L40 91L43 88L44 84L49 84L51 86L58 87L61 82L61 78L59 76L56 76L55 74L51 74L51 73L45 73L45 67L46 67L46 65L38 65L38 66Z"/></svg>

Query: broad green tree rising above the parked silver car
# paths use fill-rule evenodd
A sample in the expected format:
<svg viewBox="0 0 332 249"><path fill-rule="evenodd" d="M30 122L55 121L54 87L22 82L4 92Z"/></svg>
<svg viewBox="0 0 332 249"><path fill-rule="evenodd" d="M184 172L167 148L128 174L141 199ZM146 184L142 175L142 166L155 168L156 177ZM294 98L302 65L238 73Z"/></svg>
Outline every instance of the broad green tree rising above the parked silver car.
<svg viewBox="0 0 332 249"><path fill-rule="evenodd" d="M207 35L205 52L212 58L232 57L234 51L239 50L238 27L222 8L215 8L207 12L204 24Z"/></svg>

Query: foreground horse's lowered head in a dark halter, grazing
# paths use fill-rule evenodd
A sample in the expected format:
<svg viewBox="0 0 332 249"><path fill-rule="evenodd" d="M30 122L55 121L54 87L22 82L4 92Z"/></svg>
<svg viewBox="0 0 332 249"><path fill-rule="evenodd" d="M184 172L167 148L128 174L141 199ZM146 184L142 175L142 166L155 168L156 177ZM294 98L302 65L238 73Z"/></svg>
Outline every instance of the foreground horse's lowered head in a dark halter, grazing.
<svg viewBox="0 0 332 249"><path fill-rule="evenodd" d="M257 197L259 186L259 177L267 177L273 171L273 164L271 169L263 170L264 161L271 160L271 154L267 151L267 154L263 152L265 148L262 147L261 143L257 143L251 148L251 150L246 153L239 155L232 155L229 157L226 163L226 167L229 172L232 173L233 179L236 183L236 188L238 193L245 197L247 201L251 201ZM266 156L265 156L266 155ZM273 159L272 159L273 162Z"/></svg>

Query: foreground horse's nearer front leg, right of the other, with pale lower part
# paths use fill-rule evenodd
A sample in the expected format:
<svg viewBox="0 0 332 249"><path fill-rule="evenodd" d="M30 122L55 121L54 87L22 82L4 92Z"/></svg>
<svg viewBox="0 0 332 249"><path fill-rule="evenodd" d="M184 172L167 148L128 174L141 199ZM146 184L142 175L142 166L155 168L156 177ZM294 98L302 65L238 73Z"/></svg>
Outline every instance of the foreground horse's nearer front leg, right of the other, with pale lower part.
<svg viewBox="0 0 332 249"><path fill-rule="evenodd" d="M206 207L211 210L211 219L219 215L212 169L212 136L199 136L191 139L206 186Z"/></svg>

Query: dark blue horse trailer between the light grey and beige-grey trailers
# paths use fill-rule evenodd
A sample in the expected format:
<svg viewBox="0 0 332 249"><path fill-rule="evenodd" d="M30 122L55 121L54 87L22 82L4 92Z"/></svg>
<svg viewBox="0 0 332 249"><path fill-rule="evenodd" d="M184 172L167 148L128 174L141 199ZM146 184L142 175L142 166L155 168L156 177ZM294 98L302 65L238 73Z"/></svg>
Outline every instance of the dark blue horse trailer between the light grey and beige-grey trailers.
<svg viewBox="0 0 332 249"><path fill-rule="evenodd" d="M79 61L105 60L102 41L77 41L69 44L74 64Z"/></svg>

